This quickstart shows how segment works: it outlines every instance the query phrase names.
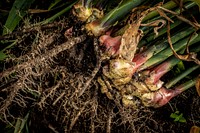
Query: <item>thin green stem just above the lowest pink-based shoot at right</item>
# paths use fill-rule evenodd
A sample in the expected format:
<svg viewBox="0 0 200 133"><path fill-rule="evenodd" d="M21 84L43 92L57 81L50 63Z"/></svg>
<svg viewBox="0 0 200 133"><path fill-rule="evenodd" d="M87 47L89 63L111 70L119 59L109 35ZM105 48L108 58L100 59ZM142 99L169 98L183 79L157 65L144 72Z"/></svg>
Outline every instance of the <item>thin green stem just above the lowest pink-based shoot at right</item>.
<svg viewBox="0 0 200 133"><path fill-rule="evenodd" d="M180 75L178 75L177 77L173 78L168 83L166 83L165 87L168 88L168 89L171 88L178 81L180 81L181 79L183 79L184 77L186 77L188 74L190 74L194 70L198 69L199 67L200 67L199 65L195 65L193 67L188 68L185 72L181 73Z"/></svg>

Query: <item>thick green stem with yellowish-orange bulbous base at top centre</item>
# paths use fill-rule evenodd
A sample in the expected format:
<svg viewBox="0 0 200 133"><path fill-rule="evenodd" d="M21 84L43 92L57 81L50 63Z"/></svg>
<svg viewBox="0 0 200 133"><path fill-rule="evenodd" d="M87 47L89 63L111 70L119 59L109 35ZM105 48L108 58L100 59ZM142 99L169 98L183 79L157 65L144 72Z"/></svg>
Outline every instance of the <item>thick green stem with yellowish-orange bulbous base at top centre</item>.
<svg viewBox="0 0 200 133"><path fill-rule="evenodd" d="M91 31L95 36L99 36L143 1L144 0L123 0L116 8L111 10L103 18L87 24L86 29Z"/></svg>

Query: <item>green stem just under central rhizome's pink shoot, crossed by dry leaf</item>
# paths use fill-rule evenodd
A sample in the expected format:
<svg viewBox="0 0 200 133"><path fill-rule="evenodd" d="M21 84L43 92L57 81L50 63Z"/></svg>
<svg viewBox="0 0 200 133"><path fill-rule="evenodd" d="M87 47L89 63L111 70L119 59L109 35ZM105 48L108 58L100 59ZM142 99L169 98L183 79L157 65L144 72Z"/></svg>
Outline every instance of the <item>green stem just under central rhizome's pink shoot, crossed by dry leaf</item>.
<svg viewBox="0 0 200 133"><path fill-rule="evenodd" d="M189 40L190 37L186 37L180 41L178 41L177 43L174 44L174 50L175 51L179 51L182 48L184 48ZM191 37L190 39L190 45L194 44L194 42L196 42L197 40L200 40L200 35L195 34ZM173 54L172 50L170 47L168 47L167 49L164 49L163 51L159 52L158 54L156 54L155 56L153 56L152 58L150 58L147 62L145 62L140 68L139 70L144 70L150 66L156 65L162 61L164 61L165 59L167 59L168 57L170 57Z"/></svg>

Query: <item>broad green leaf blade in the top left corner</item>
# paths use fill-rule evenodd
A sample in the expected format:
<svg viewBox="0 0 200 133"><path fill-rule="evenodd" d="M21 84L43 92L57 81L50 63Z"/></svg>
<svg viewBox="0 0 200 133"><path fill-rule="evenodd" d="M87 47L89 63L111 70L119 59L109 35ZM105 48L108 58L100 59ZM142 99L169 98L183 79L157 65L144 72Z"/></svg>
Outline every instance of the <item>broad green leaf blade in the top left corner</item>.
<svg viewBox="0 0 200 133"><path fill-rule="evenodd" d="M15 0L4 25L3 35L15 29L33 2L34 0Z"/></svg>

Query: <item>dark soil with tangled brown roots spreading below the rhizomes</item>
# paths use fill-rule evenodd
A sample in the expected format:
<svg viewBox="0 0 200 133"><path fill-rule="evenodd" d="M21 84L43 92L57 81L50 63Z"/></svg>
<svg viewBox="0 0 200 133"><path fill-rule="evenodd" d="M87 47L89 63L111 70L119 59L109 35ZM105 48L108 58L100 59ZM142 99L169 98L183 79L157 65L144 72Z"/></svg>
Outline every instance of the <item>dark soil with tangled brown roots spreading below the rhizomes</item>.
<svg viewBox="0 0 200 133"><path fill-rule="evenodd" d="M200 125L200 102L187 91L159 109L124 108L100 92L98 40L78 21L20 29L0 71L1 128L28 114L30 132L189 132ZM71 32L69 32L71 31ZM67 32L67 34L66 34ZM8 37L8 38L9 38ZM181 111L187 122L174 122Z"/></svg>

